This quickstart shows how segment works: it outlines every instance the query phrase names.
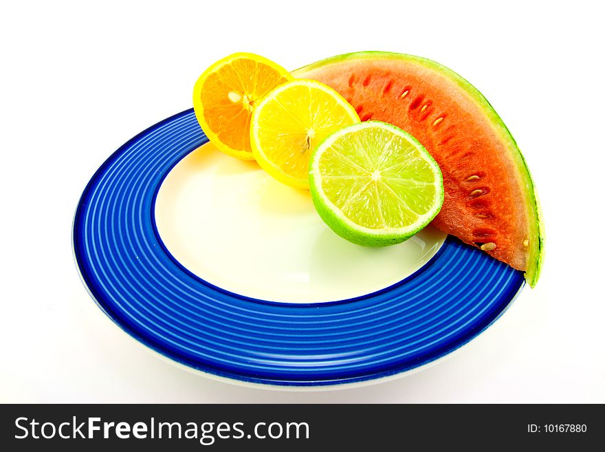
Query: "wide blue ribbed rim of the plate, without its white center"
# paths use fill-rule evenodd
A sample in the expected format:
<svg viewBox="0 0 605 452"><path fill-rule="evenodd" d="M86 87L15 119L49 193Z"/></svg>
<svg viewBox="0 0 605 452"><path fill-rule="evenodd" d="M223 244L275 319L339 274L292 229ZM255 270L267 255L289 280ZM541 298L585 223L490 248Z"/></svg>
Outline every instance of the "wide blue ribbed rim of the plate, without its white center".
<svg viewBox="0 0 605 452"><path fill-rule="evenodd" d="M179 363L272 385L371 380L430 363L493 323L522 272L448 237L395 285L329 303L276 303L193 275L155 226L160 184L207 142L193 110L132 138L90 180L74 219L74 253L89 292L124 331Z"/></svg>

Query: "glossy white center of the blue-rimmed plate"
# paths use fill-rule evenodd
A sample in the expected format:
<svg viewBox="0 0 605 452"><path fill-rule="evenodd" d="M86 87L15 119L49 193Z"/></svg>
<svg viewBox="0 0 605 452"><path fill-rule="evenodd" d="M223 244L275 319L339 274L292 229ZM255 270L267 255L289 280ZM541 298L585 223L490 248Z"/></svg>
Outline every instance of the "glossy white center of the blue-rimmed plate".
<svg viewBox="0 0 605 452"><path fill-rule="evenodd" d="M351 244L322 222L308 191L285 186L256 162L230 158L212 144L166 176L155 221L166 248L201 279L289 303L384 289L421 268L445 240L429 226L395 246Z"/></svg>

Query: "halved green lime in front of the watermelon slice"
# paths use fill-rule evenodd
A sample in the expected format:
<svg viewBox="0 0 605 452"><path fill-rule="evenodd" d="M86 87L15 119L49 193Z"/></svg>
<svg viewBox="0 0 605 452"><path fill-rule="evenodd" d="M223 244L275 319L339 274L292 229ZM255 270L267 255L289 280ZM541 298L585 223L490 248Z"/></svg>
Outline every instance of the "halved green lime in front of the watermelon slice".
<svg viewBox="0 0 605 452"><path fill-rule="evenodd" d="M409 239L443 204L437 162L409 133L380 121L344 127L321 142L309 184L324 222L364 246Z"/></svg>

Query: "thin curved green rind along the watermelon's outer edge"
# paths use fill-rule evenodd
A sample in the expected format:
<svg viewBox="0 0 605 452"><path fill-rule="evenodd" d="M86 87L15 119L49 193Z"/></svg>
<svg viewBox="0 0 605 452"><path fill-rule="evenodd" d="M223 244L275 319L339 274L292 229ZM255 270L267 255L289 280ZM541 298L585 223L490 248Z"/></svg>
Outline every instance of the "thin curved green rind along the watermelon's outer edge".
<svg viewBox="0 0 605 452"><path fill-rule="evenodd" d="M338 56L332 56L322 61L312 63L300 69L296 69L292 74L296 77L305 77L305 74L314 69L325 67L333 63L340 63L342 61L355 61L363 58L367 59L391 59L391 60L405 60L418 63L424 67L433 69L434 71L443 74L444 76L453 80L463 92L468 94L481 108L485 116L489 119L489 122L498 131L500 138L503 142L507 143L507 149L509 149L509 156L516 163L518 168L518 174L522 177L522 186L525 188L523 193L525 194L526 200L525 205L529 217L530 227L530 244L529 257L527 260L527 269L525 270L525 280L529 283L529 286L534 287L538 282L540 276L540 270L542 269L542 262L544 261L544 224L542 222L542 213L540 211L540 203L538 201L538 194L536 193L536 186L533 184L531 179L531 173L525 162L525 158L518 148L518 145L510 133L509 129L504 124L503 120L498 116L494 107L487 101L485 96L481 94L468 80L456 74L448 67L445 67L435 61L421 56L414 56L408 54L398 54L394 52L380 52L380 51L369 51L369 52L355 52L350 54L343 54ZM533 217L533 221L531 218Z"/></svg>

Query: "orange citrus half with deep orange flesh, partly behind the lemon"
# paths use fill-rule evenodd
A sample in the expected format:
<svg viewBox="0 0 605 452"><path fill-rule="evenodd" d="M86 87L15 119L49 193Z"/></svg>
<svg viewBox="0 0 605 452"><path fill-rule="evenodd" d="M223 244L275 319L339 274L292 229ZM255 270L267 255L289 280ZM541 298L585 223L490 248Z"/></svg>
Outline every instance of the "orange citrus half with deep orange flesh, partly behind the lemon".
<svg viewBox="0 0 605 452"><path fill-rule="evenodd" d="M204 133L226 154L254 160L250 115L271 89L292 80L281 66L248 53L227 56L208 67L193 87L193 109Z"/></svg>

